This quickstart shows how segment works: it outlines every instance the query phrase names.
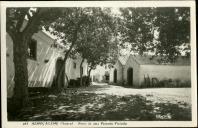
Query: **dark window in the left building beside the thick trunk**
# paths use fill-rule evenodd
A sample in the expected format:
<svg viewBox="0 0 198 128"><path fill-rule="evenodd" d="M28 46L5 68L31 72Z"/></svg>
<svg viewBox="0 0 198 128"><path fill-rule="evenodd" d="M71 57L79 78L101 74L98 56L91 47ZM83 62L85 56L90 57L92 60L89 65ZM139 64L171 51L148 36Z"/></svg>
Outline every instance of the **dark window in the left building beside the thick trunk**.
<svg viewBox="0 0 198 128"><path fill-rule="evenodd" d="M37 42L34 39L31 39L28 43L28 56L30 59L36 60L37 58Z"/></svg>

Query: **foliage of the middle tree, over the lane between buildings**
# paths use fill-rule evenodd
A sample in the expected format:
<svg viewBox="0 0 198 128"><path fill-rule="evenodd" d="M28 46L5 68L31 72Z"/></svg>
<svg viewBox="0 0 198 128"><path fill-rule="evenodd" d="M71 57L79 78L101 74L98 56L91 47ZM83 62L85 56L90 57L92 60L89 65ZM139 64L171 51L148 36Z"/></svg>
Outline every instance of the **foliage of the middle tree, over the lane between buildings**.
<svg viewBox="0 0 198 128"><path fill-rule="evenodd" d="M97 64L106 63L109 42L115 30L110 9L75 7L64 8L63 12L62 17L51 25L45 25L45 28L68 47L64 60L79 53L83 60L87 59L91 69Z"/></svg>

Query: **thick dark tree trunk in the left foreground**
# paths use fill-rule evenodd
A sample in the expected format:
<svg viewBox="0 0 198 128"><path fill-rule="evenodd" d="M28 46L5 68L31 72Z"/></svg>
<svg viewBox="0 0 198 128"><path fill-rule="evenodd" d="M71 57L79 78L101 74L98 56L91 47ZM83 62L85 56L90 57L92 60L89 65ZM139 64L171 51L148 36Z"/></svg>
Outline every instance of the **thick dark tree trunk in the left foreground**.
<svg viewBox="0 0 198 128"><path fill-rule="evenodd" d="M27 41L22 34L13 39L13 61L15 69L13 103L21 109L28 103Z"/></svg>

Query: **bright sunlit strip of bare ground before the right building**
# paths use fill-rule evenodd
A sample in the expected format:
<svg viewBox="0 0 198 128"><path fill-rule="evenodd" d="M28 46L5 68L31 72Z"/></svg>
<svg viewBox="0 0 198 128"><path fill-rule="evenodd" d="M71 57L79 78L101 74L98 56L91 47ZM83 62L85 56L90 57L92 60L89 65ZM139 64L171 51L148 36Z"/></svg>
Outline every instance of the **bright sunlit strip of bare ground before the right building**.
<svg viewBox="0 0 198 128"><path fill-rule="evenodd" d="M142 95L146 97L147 100L158 103L178 103L183 102L191 105L191 88L144 88L144 89L134 89L134 88L124 88L121 86L114 85L104 85L97 84L96 86L104 87L102 90L96 90L96 94L108 94L117 96L127 96L127 95ZM106 87L105 87L106 86ZM85 91L89 92L89 91Z"/></svg>

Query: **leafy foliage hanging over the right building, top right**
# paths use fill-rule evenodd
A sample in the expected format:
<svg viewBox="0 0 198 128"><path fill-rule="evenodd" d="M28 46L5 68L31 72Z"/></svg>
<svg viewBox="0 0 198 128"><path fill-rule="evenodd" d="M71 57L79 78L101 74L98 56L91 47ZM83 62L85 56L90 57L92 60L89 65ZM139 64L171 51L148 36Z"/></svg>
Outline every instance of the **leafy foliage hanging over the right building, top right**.
<svg viewBox="0 0 198 128"><path fill-rule="evenodd" d="M171 62L181 55L181 45L187 44L185 50L189 51L190 8L121 8L120 11L122 42L129 42L131 50L141 55L155 52Z"/></svg>

